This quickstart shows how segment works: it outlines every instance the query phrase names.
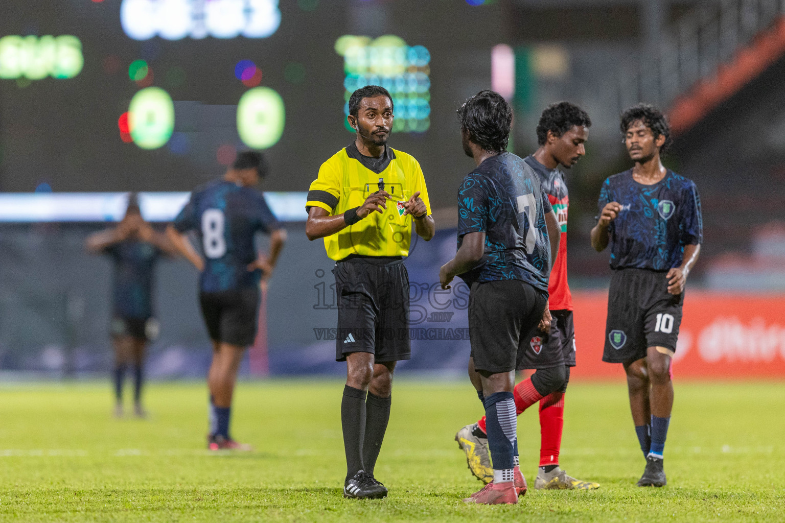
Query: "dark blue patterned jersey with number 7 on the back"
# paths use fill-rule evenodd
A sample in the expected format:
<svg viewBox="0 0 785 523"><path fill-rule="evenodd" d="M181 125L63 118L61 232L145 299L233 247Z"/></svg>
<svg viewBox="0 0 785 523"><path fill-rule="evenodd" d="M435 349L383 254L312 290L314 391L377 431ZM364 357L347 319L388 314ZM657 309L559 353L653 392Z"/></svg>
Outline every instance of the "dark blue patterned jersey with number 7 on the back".
<svg viewBox="0 0 785 523"><path fill-rule="evenodd" d="M548 292L545 215L552 210L539 177L523 159L503 152L482 162L458 189L458 248L466 234L485 233L480 264L461 278L469 285L522 280Z"/></svg>

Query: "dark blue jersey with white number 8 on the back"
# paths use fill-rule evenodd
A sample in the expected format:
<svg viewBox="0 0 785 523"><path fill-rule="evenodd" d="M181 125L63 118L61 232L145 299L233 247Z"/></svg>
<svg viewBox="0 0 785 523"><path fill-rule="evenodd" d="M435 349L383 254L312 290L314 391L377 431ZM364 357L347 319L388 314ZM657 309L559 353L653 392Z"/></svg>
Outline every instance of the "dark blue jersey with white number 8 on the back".
<svg viewBox="0 0 785 523"><path fill-rule="evenodd" d="M217 180L191 194L174 219L183 233L196 231L205 259L199 278L203 292L221 292L259 285L261 271L248 271L257 257L257 232L281 226L260 191Z"/></svg>

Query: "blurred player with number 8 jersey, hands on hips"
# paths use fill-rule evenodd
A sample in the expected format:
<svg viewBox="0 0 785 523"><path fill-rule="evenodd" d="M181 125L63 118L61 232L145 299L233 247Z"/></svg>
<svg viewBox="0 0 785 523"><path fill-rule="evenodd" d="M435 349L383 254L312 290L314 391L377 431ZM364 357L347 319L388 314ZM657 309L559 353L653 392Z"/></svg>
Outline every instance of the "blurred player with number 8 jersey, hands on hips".
<svg viewBox="0 0 785 523"><path fill-rule="evenodd" d="M199 269L199 303L213 341L207 376L210 389L210 450L250 450L229 433L232 394L243 354L256 336L261 278L269 278L286 231L253 187L267 174L257 152L241 152L221 180L199 187L166 228L166 234ZM188 238L195 231L203 256ZM257 254L257 232L270 234L270 255Z"/></svg>

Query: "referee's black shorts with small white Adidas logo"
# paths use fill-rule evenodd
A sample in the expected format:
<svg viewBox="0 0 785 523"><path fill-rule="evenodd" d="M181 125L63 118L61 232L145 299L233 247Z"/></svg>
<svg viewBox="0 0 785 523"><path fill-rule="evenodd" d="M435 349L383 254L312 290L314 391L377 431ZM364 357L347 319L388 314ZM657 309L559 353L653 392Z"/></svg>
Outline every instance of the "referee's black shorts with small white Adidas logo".
<svg viewBox="0 0 785 523"><path fill-rule="evenodd" d="M356 257L335 263L338 336L335 360L370 352L374 361L411 358L409 273L403 259Z"/></svg>

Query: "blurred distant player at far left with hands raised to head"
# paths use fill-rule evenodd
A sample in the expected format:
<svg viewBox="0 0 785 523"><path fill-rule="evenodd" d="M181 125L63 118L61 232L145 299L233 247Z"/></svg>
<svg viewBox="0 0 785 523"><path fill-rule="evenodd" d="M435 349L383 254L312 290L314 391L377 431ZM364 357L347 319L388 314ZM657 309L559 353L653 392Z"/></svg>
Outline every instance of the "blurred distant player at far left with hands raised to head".
<svg viewBox="0 0 785 523"><path fill-rule="evenodd" d="M111 313L115 416L122 416L122 382L127 367L133 365L133 412L144 417L144 350L159 330L152 311L155 263L162 254L173 255L175 251L164 234L144 221L136 194L128 198L126 216L117 227L91 234L86 245L89 252L107 254L115 263Z"/></svg>

